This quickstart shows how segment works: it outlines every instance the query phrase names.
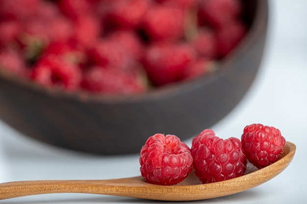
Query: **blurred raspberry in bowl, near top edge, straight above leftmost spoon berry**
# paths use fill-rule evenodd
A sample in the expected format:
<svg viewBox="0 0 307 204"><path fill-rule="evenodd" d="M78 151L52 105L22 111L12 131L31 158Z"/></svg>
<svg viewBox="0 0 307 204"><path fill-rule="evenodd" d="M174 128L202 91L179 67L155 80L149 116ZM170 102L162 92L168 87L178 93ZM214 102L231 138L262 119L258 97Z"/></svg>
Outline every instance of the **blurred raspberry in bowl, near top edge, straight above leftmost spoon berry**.
<svg viewBox="0 0 307 204"><path fill-rule="evenodd" d="M179 7L152 6L142 26L150 41L176 41L184 34L184 10Z"/></svg>

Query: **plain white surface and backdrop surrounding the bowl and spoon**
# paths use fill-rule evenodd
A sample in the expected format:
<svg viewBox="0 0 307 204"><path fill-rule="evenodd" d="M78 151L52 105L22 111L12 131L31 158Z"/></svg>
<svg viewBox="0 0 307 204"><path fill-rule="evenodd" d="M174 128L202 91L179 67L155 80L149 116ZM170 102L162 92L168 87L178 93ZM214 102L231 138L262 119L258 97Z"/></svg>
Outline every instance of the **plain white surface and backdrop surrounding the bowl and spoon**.
<svg viewBox="0 0 307 204"><path fill-rule="evenodd" d="M227 138L240 137L245 125L251 123L275 126L286 140L297 145L296 155L280 175L262 185L193 204L306 203L307 1L271 0L270 6L268 44L256 81L238 106L210 128ZM190 140L186 142L189 144ZM112 179L138 175L137 154L93 156L58 149L29 139L0 121L0 181ZM88 194L37 195L0 201L0 204L11 203L164 202Z"/></svg>

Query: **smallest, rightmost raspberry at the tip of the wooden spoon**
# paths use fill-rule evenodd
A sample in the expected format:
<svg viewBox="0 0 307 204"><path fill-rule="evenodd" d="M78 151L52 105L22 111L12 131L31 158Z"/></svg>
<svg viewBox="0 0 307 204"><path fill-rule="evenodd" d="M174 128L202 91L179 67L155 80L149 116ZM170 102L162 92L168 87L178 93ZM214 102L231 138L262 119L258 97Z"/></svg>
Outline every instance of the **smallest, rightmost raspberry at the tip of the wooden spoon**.
<svg viewBox="0 0 307 204"><path fill-rule="evenodd" d="M246 158L257 168L263 168L275 162L285 144L279 129L262 124L246 126L241 141Z"/></svg>

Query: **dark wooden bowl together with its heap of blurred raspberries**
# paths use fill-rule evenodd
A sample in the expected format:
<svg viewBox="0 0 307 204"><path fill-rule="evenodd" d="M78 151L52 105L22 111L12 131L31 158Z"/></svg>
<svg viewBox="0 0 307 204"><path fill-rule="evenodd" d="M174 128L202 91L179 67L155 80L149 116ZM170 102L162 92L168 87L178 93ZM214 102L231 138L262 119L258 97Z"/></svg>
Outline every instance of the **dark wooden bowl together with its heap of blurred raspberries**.
<svg viewBox="0 0 307 204"><path fill-rule="evenodd" d="M256 76L266 0L1 0L0 119L97 154L199 134Z"/></svg>

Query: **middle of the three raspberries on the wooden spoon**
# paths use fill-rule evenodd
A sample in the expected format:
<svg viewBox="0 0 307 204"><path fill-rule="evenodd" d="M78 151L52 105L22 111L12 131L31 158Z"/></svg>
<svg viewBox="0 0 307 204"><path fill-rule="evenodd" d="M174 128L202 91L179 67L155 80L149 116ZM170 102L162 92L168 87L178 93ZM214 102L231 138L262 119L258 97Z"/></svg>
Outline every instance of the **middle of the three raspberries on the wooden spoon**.
<svg viewBox="0 0 307 204"><path fill-rule="evenodd" d="M242 176L246 158L238 138L222 139L205 129L192 140L191 154L196 176L203 183Z"/></svg>

